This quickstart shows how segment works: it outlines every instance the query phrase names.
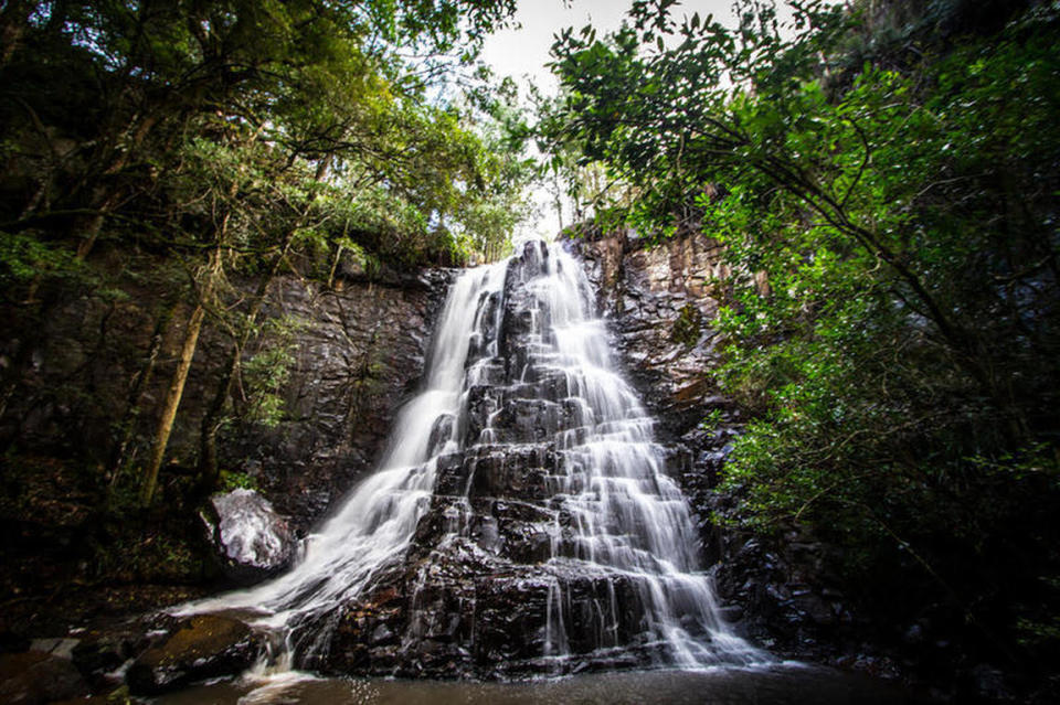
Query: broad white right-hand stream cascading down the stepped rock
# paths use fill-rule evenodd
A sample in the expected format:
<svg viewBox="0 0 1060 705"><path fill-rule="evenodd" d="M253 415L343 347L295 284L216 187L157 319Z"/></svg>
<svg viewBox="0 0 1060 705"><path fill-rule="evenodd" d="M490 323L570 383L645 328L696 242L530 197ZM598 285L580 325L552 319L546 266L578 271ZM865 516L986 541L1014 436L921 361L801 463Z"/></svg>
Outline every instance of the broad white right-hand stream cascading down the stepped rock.
<svg viewBox="0 0 1060 705"><path fill-rule="evenodd" d="M544 271L527 282L531 348L523 371L560 374L575 409L575 426L555 437L560 470L550 478L558 510L549 564L561 575L600 573L636 586L646 632L668 663L696 667L752 663L764 654L731 634L718 617L709 578L699 572L695 523L688 502L665 473L654 420L616 372L604 322L582 267L562 247L544 245ZM559 517L569 517L563 532ZM614 602L614 583L608 583ZM547 651L563 655L568 634L559 585L549 591ZM606 600L605 600L606 601ZM617 606L594 606L600 645L617 630Z"/></svg>

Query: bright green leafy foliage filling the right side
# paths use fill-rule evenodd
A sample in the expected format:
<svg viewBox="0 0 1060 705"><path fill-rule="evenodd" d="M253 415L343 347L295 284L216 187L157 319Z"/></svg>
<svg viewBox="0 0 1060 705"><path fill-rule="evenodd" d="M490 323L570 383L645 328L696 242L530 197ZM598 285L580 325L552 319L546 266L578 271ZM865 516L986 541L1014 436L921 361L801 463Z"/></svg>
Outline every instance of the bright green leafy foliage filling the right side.
<svg viewBox="0 0 1060 705"><path fill-rule="evenodd" d="M1011 643L1060 566L1060 15L670 4L561 35L544 125L636 195L603 224L725 246L733 521L813 525L867 599Z"/></svg>

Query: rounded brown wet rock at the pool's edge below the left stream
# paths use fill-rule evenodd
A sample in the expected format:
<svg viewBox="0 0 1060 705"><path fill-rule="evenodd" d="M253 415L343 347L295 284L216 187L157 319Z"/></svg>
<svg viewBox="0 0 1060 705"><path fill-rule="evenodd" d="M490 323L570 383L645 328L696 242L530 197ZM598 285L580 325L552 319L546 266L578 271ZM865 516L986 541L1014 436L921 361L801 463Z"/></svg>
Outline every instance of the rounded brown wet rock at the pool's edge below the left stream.
<svg viewBox="0 0 1060 705"><path fill-rule="evenodd" d="M262 638L237 619L200 615L178 624L137 656L126 682L136 694L151 695L197 681L235 675L263 651Z"/></svg>

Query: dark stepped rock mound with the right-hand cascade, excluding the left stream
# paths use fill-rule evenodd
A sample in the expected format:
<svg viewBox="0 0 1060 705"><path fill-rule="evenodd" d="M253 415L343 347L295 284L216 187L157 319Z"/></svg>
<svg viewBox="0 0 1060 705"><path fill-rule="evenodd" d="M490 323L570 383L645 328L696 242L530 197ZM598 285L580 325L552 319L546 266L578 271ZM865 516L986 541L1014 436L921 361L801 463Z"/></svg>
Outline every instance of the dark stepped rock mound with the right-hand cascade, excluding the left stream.
<svg viewBox="0 0 1060 705"><path fill-rule="evenodd" d="M668 663L664 623L730 658L714 650L706 580L659 563L697 566L669 479L689 451L655 441L611 371L580 267L531 244L480 297L462 412L428 444L441 451L430 505L402 560L339 609L314 669L511 677Z"/></svg>

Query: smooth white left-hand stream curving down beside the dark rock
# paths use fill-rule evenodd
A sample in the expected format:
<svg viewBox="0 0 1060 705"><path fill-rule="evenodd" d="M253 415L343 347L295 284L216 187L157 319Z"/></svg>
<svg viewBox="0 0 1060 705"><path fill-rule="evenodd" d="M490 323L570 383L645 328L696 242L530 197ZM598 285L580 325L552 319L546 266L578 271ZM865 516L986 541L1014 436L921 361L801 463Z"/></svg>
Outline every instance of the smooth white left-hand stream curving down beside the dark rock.
<svg viewBox="0 0 1060 705"><path fill-rule="evenodd" d="M437 456L427 445L435 421L455 415L479 297L504 285L504 265L466 273L453 286L430 356L425 388L398 415L380 468L340 511L308 537L301 560L286 575L248 590L186 605L176 615L251 609L257 626L283 629L359 595L403 554L426 511ZM451 450L451 438L443 448Z"/></svg>

